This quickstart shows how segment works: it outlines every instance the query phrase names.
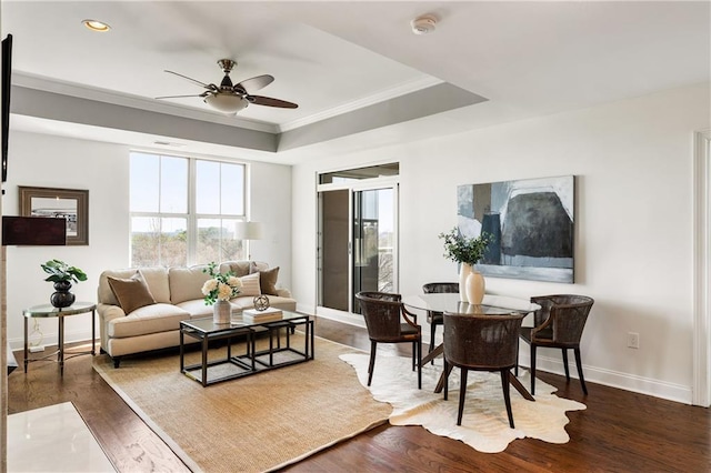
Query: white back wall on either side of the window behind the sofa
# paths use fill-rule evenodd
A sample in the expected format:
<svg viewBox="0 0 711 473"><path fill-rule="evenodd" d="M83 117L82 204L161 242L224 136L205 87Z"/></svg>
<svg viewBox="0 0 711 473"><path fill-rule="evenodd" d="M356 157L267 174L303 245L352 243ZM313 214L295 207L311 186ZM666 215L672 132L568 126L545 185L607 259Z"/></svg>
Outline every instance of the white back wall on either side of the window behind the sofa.
<svg viewBox="0 0 711 473"><path fill-rule="evenodd" d="M49 303L54 291L44 282L40 264L59 259L87 272L86 282L74 284L78 301L97 300L99 274L127 268L129 254L129 147L13 131L10 137L8 182L2 210L19 214L18 185L89 190L88 246L8 246L8 340L13 349L23 343L22 309ZM263 222L266 239L252 243L252 256L280 265L279 284L291 284L290 199L291 169L250 163L252 174L248 201L251 218ZM57 320L40 320L42 344L57 343ZM30 321L30 330L32 321ZM89 314L68 318L67 342L91 336ZM97 338L99 328L97 326ZM32 341L38 338L33 335Z"/></svg>

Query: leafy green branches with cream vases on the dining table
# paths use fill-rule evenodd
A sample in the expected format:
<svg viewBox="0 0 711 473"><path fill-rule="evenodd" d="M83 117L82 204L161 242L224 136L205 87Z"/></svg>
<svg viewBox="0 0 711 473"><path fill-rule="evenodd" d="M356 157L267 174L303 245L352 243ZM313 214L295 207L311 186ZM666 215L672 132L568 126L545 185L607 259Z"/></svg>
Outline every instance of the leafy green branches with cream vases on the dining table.
<svg viewBox="0 0 711 473"><path fill-rule="evenodd" d="M460 263L459 296L463 302L481 304L484 296L485 281L474 264L481 260L491 242L491 235L481 232L479 236L464 236L457 227L448 233L440 233L444 240L444 258Z"/></svg>

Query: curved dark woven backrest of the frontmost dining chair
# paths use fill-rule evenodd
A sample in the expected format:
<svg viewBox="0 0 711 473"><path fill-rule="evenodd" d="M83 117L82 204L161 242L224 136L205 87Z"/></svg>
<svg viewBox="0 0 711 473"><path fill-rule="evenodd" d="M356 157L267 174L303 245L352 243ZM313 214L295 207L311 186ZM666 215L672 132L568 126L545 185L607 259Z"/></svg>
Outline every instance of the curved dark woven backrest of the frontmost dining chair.
<svg viewBox="0 0 711 473"><path fill-rule="evenodd" d="M444 312L444 358L457 366L514 366L524 314L465 315Z"/></svg>

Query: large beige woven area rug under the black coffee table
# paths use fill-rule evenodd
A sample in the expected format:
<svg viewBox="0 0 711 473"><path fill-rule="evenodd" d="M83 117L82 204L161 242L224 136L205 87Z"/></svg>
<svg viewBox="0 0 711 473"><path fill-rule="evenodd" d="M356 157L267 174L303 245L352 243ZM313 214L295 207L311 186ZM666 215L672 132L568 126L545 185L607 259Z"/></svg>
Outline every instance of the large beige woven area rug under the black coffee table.
<svg viewBox="0 0 711 473"><path fill-rule="evenodd" d="M303 348L298 332L292 343ZM126 358L118 370L99 355L93 366L192 471L261 472L387 422L392 407L339 360L357 352L317 338L312 361L207 388L180 373L177 354Z"/></svg>

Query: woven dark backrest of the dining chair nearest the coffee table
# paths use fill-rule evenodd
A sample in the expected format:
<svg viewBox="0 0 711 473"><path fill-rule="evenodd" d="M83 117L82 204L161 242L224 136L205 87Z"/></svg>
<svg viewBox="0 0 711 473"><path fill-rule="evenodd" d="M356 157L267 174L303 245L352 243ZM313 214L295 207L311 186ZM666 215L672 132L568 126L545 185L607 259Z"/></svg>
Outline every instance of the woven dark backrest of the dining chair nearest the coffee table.
<svg viewBox="0 0 711 473"><path fill-rule="evenodd" d="M400 311L402 296L387 292L359 292L356 299L360 303L365 319L368 336L378 342L388 342L400 338Z"/></svg>

